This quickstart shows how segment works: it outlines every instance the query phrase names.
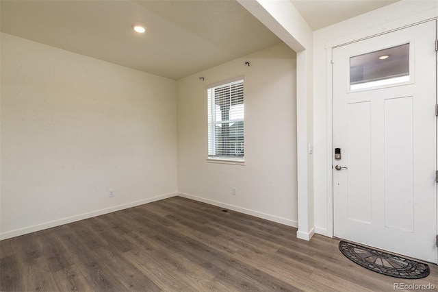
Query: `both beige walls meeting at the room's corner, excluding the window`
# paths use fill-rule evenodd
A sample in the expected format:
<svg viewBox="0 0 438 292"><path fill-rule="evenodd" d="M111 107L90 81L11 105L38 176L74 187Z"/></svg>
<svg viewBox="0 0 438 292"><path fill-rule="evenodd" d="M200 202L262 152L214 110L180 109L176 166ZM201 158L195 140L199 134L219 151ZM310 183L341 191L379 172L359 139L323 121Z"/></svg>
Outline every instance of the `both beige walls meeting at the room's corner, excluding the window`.
<svg viewBox="0 0 438 292"><path fill-rule="evenodd" d="M246 165L209 163L206 86L241 75ZM284 44L175 82L1 34L0 239L170 197L177 184L296 226L295 80Z"/></svg>

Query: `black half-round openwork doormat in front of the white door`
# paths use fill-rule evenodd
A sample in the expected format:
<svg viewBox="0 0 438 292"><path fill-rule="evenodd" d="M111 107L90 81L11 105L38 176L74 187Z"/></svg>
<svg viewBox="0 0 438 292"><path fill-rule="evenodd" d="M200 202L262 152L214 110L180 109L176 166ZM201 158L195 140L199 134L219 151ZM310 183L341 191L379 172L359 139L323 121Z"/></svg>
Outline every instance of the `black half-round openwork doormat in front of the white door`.
<svg viewBox="0 0 438 292"><path fill-rule="evenodd" d="M420 279L430 273L429 266L424 263L373 250L355 243L341 241L339 250L357 265L383 275L403 279Z"/></svg>

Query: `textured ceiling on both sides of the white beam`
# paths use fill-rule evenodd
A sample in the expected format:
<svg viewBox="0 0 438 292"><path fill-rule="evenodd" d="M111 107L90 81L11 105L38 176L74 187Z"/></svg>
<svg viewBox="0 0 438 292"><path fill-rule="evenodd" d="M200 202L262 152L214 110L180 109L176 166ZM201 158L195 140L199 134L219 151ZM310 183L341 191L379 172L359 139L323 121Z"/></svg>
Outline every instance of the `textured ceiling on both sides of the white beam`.
<svg viewBox="0 0 438 292"><path fill-rule="evenodd" d="M318 29L394 1L292 2ZM146 33L133 32L134 23ZM0 25L7 34L175 80L281 42L235 0L1 0Z"/></svg>

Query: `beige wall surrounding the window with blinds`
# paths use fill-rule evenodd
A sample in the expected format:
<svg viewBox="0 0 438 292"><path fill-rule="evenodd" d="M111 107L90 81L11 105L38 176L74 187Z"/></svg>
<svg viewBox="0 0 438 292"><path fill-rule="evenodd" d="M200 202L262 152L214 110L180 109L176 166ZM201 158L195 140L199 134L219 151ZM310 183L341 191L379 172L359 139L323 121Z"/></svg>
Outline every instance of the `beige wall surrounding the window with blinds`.
<svg viewBox="0 0 438 292"><path fill-rule="evenodd" d="M207 85L240 75L246 163L207 162ZM296 55L283 43L179 80L179 194L296 226L295 80Z"/></svg>

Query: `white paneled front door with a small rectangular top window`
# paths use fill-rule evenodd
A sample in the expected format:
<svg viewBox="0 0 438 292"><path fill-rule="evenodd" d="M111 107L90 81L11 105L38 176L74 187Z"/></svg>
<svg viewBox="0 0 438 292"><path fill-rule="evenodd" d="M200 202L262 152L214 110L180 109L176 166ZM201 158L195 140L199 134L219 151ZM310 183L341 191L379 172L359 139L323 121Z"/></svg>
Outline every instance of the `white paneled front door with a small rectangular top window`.
<svg viewBox="0 0 438 292"><path fill-rule="evenodd" d="M428 21L333 49L335 236L432 263L436 27Z"/></svg>

